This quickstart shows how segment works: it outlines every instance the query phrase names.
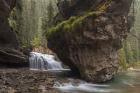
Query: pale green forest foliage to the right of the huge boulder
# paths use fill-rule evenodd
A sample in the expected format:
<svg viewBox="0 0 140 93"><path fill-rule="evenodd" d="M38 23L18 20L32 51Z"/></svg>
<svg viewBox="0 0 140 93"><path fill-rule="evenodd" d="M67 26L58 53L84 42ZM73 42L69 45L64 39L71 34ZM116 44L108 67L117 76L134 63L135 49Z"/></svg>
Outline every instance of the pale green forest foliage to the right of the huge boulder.
<svg viewBox="0 0 140 93"><path fill-rule="evenodd" d="M135 9L134 9L135 8ZM132 5L132 9L130 10L131 16L135 17L135 22L132 25L130 33L128 34L127 39L123 44L123 52L125 55L126 63L128 65L137 64L140 61L140 2L135 0L134 6Z"/></svg>

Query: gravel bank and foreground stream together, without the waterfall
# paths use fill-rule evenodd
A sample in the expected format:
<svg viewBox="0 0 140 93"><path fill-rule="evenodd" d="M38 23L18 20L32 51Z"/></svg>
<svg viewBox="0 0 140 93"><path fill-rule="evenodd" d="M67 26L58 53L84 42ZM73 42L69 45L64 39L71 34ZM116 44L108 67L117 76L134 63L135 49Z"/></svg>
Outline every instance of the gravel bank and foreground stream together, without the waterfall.
<svg viewBox="0 0 140 93"><path fill-rule="evenodd" d="M120 72L102 84L85 82L66 73L3 68L0 69L0 93L140 93L139 70Z"/></svg>

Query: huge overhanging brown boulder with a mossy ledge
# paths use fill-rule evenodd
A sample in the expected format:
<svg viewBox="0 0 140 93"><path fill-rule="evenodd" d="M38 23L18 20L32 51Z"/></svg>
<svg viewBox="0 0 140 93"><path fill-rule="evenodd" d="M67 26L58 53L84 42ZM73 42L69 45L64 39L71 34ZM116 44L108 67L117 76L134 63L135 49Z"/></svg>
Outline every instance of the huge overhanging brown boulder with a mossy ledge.
<svg viewBox="0 0 140 93"><path fill-rule="evenodd" d="M131 3L132 0L60 0L55 20L59 23L47 32L48 47L83 79L112 79L119 67L118 50L128 33Z"/></svg>

